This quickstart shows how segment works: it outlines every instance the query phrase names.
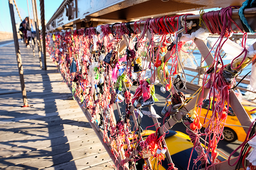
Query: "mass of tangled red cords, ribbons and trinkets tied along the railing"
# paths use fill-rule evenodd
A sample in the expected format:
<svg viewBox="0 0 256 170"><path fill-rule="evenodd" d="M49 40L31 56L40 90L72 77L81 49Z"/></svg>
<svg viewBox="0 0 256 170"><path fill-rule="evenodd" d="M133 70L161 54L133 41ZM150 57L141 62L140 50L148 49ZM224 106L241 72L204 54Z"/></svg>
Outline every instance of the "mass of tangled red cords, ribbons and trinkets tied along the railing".
<svg viewBox="0 0 256 170"><path fill-rule="evenodd" d="M199 153L199 157L193 160L194 166L197 162L201 162L206 169L214 166L213 161L218 157L217 144L223 139L223 125L229 110L229 93L235 86L238 72L253 60L253 56L247 55L247 34L244 33L241 54L234 57L230 64L224 65L222 61L222 46L234 32L231 24L243 32L232 20L232 9L237 8L202 12L200 21L208 30L200 28L195 32L191 32L191 29L197 24L192 20L186 21L186 17L192 15L186 14L48 33L46 44L50 58L71 87L74 97L89 110L91 123L97 124L99 131L102 131L103 141L111 147L115 160L119 160L117 168L132 169L136 161L144 159L144 169L153 169L150 157L157 161L157 166L162 165L161 162L166 159L164 138L168 129L163 126L163 133L159 134L158 128L144 140L146 132L140 126L142 116L151 115L155 121L160 118L153 105L158 102L154 85L161 83L161 91L169 91L167 99L172 99L172 103L167 102L162 114L165 118L172 116L172 120L181 122L176 120L175 114L190 100L186 100L181 92L186 90L184 63L191 62L184 46L190 40L206 40L209 32L220 35L215 55L203 78L205 86L197 91L201 95L197 95L195 108L187 110L188 114L182 122L187 127L193 150ZM125 41L126 49L121 50L121 41ZM207 57L210 57L210 53ZM150 78L145 78L146 72L151 73ZM210 78L207 80L207 77ZM135 80L139 85L135 94L132 94L131 86ZM211 101L212 116L210 120L205 118L201 124L204 93L208 93L207 99ZM113 104L121 102L126 104L125 112L118 113L116 122ZM149 111L141 110L143 107L148 107ZM131 123L131 115L134 124ZM157 124L153 126L157 127ZM203 125L206 126L204 132L200 131ZM203 136L204 145L207 146L205 149L200 142ZM171 160L168 161L168 167L165 168L176 170Z"/></svg>

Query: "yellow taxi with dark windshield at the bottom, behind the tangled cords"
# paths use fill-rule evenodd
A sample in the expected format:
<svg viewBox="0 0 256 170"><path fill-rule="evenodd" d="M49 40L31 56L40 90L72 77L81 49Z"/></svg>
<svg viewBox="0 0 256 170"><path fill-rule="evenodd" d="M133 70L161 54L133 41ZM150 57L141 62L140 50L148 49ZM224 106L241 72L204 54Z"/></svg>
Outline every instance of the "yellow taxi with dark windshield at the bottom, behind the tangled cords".
<svg viewBox="0 0 256 170"><path fill-rule="evenodd" d="M155 133L155 131L147 130L146 134L143 135L143 139L146 139L148 135L150 135L151 133ZM142 134L144 134L144 132ZM179 131L169 130L169 133L165 135L165 142L175 167L178 169L187 169L189 157L193 149L193 143L190 141L189 136ZM197 152L194 149L191 157L191 161L190 161L191 163L189 165L189 169L193 168L193 165L194 165L193 159L196 159L197 156L198 156ZM226 158L219 155L214 160L214 163L219 163L225 160ZM162 164L161 170L168 169L167 159L163 160L161 164ZM142 170L144 165L144 159L140 159L135 163L135 165L137 170ZM160 169L160 165L157 166L157 163L155 163L155 159L153 157L151 157L151 165L152 165L152 170ZM198 167L200 165L200 161L196 165Z"/></svg>

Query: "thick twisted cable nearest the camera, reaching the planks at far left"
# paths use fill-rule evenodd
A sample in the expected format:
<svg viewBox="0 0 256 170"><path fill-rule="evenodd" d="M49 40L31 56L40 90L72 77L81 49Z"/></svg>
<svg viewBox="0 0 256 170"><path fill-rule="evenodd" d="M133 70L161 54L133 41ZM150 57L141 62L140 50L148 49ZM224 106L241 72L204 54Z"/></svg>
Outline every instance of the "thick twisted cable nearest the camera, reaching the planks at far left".
<svg viewBox="0 0 256 170"><path fill-rule="evenodd" d="M11 22L12 22L12 32L13 32L13 39L14 39L14 45L15 45L16 59L17 59L18 69L19 69L20 86L21 86L22 98L23 98L23 104L24 104L23 106L28 107L27 92L26 92L24 76L23 76L23 66L22 66L22 60L20 56L19 42L18 42L18 36L17 36L17 30L16 30L15 17L14 17L13 0L8 0L8 1L9 1Z"/></svg>

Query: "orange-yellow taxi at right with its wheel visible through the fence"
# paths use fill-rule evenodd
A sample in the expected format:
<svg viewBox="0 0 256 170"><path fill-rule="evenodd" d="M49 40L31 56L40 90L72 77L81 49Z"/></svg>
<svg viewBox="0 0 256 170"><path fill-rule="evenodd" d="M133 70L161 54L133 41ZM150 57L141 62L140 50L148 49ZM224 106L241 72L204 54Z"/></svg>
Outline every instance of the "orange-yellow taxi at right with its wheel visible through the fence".
<svg viewBox="0 0 256 170"><path fill-rule="evenodd" d="M210 106L209 103L210 103L209 100L203 101L201 118L200 118L200 123L202 123L202 124L204 124L203 123L204 117L206 116L207 110ZM251 111L251 112L249 112L249 111L254 109L256 107L256 104L249 102L247 100L242 100L241 104L244 106L244 109L248 113L251 120L254 120L256 118L256 111ZM212 116L212 108L210 107L207 118L209 119L211 116ZM206 123L208 122L208 119L206 119ZM244 129L242 127L238 127L238 126L230 126L228 124L241 126L241 123L237 119L237 117L234 114L234 111L232 110L231 107L229 107L226 124L225 124L224 130L223 130L224 141L234 142L238 139L238 141L243 142L246 137L246 133L245 133ZM247 126L250 126L250 124L248 124ZM206 124L204 124L203 127L205 128Z"/></svg>

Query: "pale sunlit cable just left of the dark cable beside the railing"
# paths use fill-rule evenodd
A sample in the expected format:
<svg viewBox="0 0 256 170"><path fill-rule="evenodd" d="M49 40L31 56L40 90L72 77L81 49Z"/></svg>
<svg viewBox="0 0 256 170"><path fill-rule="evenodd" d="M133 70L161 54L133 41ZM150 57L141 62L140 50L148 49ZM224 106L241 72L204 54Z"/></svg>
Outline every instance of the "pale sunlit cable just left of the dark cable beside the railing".
<svg viewBox="0 0 256 170"><path fill-rule="evenodd" d="M38 27L38 17L37 17L37 4L35 0L32 0L32 8L33 8L33 14L34 14L34 21L35 21L35 31L37 34L37 47L38 47L38 55L39 55L39 62L40 62L40 67L43 67L42 64L42 47L41 47L41 39L40 39L40 34L39 34L39 27Z"/></svg>

